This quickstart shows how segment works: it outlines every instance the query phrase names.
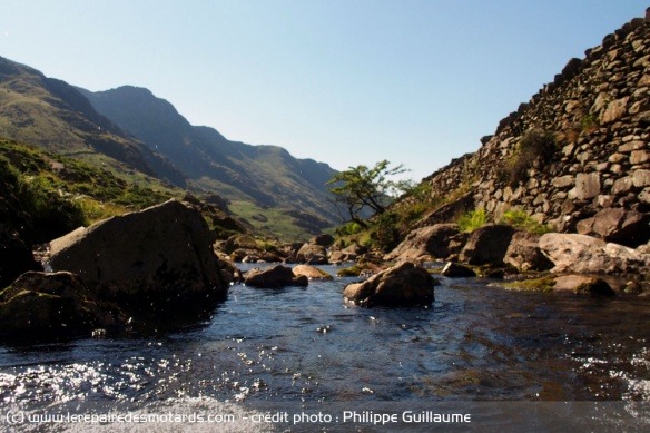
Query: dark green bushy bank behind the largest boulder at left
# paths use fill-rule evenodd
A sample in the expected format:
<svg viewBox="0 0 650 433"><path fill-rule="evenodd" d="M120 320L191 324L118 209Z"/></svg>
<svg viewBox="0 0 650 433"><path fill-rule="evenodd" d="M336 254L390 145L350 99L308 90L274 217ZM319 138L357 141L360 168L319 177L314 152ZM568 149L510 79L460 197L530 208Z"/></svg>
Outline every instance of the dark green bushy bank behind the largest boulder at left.
<svg viewBox="0 0 650 433"><path fill-rule="evenodd" d="M0 169L30 217L35 243L114 215L161 203L169 194L130 185L60 155L0 140Z"/></svg>

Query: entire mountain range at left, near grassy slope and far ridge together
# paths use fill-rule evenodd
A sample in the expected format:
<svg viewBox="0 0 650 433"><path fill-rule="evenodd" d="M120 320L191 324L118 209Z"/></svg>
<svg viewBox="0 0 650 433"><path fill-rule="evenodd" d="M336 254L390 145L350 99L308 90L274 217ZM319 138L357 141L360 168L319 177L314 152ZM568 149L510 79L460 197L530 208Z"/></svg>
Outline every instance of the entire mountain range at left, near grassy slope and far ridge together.
<svg viewBox="0 0 650 433"><path fill-rule="evenodd" d="M90 163L136 185L216 193L233 201L235 214L284 238L338 223L325 187L337 171L328 165L191 126L147 89L90 92L0 57L0 138Z"/></svg>

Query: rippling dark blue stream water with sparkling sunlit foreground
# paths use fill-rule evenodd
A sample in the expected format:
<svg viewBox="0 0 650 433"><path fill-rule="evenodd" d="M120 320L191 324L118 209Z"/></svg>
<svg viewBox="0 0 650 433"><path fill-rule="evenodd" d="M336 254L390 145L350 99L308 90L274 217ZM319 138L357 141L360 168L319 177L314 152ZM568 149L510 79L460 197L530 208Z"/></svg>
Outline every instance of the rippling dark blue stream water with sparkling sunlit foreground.
<svg viewBox="0 0 650 433"><path fill-rule="evenodd" d="M165 414L157 431L381 431L397 423L380 414L404 422L413 412L427 431L432 407L496 426L514 402L528 404L520 414L536 411L524 422L541 422L546 406L534 402L602 412L612 401L623 415L600 415L613 426L630 414L648 425L634 411L650 398L650 298L440 279L426 308L347 305L341 293L355 278L234 285L211 316L173 333L0 345L0 426L131 431L134 416ZM569 415L581 410L562 404Z"/></svg>

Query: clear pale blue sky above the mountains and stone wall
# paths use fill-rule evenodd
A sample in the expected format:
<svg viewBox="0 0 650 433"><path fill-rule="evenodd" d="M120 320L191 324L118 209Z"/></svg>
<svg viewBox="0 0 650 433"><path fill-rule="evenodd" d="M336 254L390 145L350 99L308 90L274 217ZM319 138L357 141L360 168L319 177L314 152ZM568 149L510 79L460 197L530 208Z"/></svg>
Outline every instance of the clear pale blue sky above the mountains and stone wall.
<svg viewBox="0 0 650 433"><path fill-rule="evenodd" d="M493 134L637 0L2 0L0 56L146 87L193 125L418 180Z"/></svg>

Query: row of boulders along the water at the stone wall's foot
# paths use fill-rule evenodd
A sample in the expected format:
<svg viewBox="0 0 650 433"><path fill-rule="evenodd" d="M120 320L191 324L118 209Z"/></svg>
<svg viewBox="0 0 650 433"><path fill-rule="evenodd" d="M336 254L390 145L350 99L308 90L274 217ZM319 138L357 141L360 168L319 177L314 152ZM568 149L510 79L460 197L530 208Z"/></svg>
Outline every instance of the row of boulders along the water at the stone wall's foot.
<svg viewBox="0 0 650 433"><path fill-rule="evenodd" d="M499 224L462 233L455 224L436 224L412 232L384 258L505 264L516 272L643 274L650 267L648 253L647 245L630 248L580 234L535 235Z"/></svg>

